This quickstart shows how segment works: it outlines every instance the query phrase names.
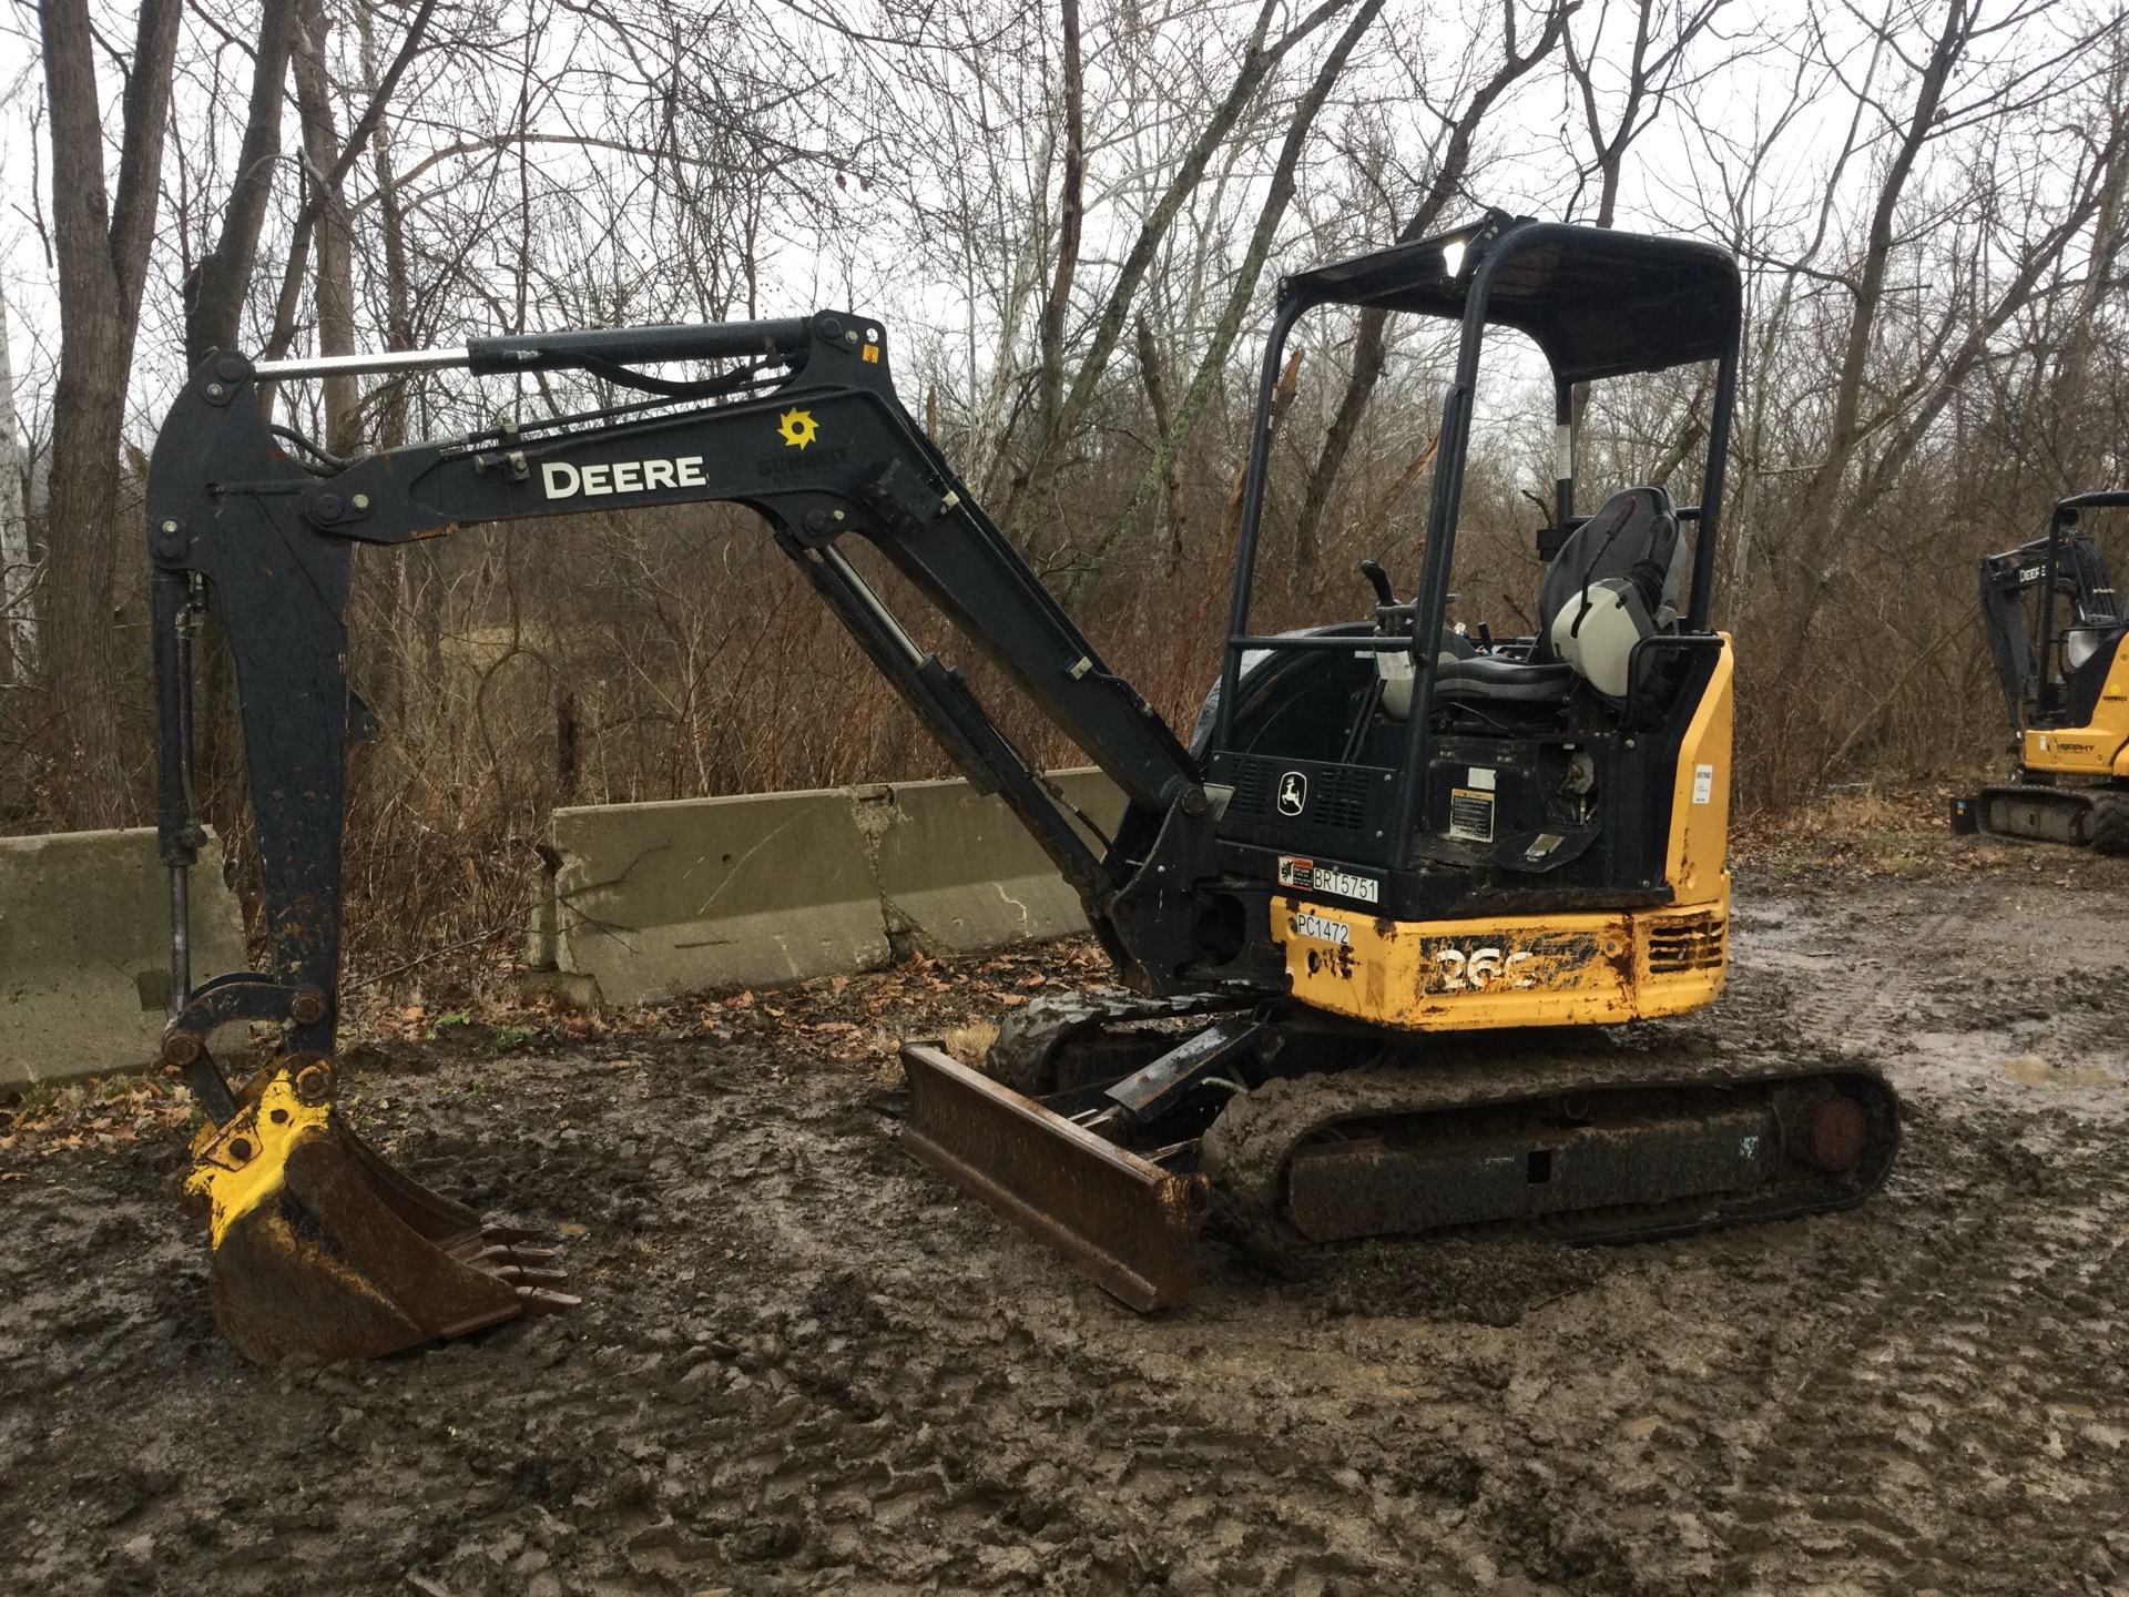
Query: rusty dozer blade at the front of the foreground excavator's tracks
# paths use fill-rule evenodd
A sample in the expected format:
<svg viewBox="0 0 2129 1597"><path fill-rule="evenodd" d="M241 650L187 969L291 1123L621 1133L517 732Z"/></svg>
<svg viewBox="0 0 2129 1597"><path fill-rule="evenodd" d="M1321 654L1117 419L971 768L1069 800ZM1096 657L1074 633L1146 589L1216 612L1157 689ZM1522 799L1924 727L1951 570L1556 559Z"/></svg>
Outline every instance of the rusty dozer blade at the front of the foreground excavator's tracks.
<svg viewBox="0 0 2129 1597"><path fill-rule="evenodd" d="M1175 1175L930 1043L903 1046L903 1146L1139 1312L1196 1286L1203 1175Z"/></svg>

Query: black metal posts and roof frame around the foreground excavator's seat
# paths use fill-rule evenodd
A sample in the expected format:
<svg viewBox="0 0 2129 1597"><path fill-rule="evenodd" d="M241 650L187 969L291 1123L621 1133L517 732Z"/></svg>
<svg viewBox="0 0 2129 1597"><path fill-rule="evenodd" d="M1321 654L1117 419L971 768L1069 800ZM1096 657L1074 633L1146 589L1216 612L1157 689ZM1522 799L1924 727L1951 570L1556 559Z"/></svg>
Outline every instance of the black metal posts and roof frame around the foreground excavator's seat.
<svg viewBox="0 0 2129 1597"><path fill-rule="evenodd" d="M1631 287L1622 281L1616 302L1595 309L1584 307L1584 326L1548 324L1541 287L1535 294L1526 294L1514 315L1497 315L1495 290L1503 273L1512 266L1529 264L1533 258L1544 258L1548 251L1563 262L1595 256L1603 262L1622 262L1624 270L1646 268L1646 281L1654 287L1637 302ZM1688 319L1686 326L1665 326L1665 311L1680 302L1682 290L1697 296L1695 309L1699 317ZM1441 402L1441 432L1435 451L1433 500L1426 513L1424 560L1407 637L1324 639L1260 637L1250 632L1250 598L1256 577L1271 454L1271 396L1294 324L1305 311L1320 304L1377 304L1418 315L1454 315L1460 322L1456 375ZM1616 317L1624 334L1605 326L1607 317ZM1575 385L1624 373L1667 371L1703 360L1716 362L1701 503L1680 513L1680 520L1697 522L1693 590L1682 618L1682 630L1705 635L1716 545L1722 532L1722 481L1729 456L1731 409L1737 396L1742 324L1744 290L1737 264L1729 251L1680 238L1644 238L1601 228L1516 219L1499 211L1437 238L1286 279L1280 285L1277 311L1271 319L1258 371L1235 556L1235 586L1228 603L1228 639L1220 669L1220 711L1205 752L1207 758L1233 747L1241 656L1245 649L1407 649L1414 671L1412 713L1407 722L1409 741L1390 809L1399 828L1392 839L1390 858L1401 862L1412 860L1416 833L1424 824L1420 796L1424 792L1433 741L1429 730L1435 681L1433 641L1441 632L1450 598L1456 511L1463 500L1480 353L1486 332L1495 326L1516 326L1529 332L1546 349L1552 364L1556 392L1554 419L1563 430L1554 513L1563 534L1575 524L1571 456ZM1590 326L1603 326L1614 336L1592 341L1588 339Z"/></svg>

